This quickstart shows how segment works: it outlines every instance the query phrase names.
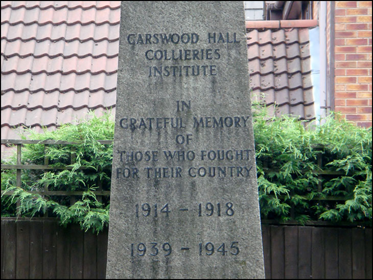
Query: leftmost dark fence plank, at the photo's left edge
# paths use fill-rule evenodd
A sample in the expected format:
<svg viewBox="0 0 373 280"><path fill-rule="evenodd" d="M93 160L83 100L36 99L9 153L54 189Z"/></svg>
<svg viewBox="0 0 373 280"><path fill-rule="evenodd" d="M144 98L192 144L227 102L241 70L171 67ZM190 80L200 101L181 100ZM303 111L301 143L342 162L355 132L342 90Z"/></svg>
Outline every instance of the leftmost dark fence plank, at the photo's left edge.
<svg viewBox="0 0 373 280"><path fill-rule="evenodd" d="M3 228L4 226L4 228ZM15 279L16 277L16 236L17 228L13 221L6 221L2 224L2 230L5 234L4 242L4 262L2 267L2 278L3 279Z"/></svg>

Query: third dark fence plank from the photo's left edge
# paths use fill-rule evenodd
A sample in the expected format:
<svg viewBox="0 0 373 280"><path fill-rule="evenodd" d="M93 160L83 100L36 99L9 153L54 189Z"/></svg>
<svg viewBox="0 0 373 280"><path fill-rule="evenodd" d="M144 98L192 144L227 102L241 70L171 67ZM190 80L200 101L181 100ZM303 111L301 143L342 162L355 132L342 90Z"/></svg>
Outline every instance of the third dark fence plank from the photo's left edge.
<svg viewBox="0 0 373 280"><path fill-rule="evenodd" d="M41 279L43 276L43 222L30 223L30 278Z"/></svg>

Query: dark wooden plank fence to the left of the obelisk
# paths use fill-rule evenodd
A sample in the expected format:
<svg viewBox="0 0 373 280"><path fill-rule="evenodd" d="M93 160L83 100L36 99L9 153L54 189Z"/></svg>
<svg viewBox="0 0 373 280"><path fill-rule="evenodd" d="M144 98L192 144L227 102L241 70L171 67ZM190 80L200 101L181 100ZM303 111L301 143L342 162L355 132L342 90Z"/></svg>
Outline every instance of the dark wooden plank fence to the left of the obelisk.
<svg viewBox="0 0 373 280"><path fill-rule="evenodd" d="M2 218L2 279L105 278L107 230L63 228L52 218Z"/></svg>

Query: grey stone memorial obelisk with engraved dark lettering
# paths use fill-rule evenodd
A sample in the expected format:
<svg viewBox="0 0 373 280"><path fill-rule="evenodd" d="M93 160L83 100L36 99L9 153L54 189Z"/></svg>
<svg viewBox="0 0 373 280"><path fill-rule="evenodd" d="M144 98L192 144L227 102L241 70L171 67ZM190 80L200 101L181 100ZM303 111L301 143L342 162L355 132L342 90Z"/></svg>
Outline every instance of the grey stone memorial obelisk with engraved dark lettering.
<svg viewBox="0 0 373 280"><path fill-rule="evenodd" d="M264 278L242 2L122 2L107 278Z"/></svg>

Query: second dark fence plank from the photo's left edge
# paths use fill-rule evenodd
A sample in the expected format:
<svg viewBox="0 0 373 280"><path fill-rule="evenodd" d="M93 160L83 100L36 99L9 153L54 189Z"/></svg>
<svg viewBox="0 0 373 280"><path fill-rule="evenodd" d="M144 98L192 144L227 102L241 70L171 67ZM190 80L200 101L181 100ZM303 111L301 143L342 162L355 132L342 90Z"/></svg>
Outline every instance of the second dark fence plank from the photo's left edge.
<svg viewBox="0 0 373 280"><path fill-rule="evenodd" d="M16 276L17 279L28 279L30 268L30 223L19 221L16 223Z"/></svg>

